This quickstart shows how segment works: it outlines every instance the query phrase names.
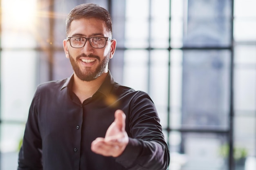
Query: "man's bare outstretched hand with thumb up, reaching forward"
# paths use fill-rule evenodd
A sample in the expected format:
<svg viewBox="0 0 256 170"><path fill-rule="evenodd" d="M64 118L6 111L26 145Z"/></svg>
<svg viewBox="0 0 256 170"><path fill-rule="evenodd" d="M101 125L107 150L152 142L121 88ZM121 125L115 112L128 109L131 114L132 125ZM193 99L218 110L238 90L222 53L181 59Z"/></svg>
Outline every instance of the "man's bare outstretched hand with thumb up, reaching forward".
<svg viewBox="0 0 256 170"><path fill-rule="evenodd" d="M122 110L115 111L115 121L109 126L105 138L98 137L92 141L91 150L103 156L118 157L127 144L128 135L125 131L126 115Z"/></svg>

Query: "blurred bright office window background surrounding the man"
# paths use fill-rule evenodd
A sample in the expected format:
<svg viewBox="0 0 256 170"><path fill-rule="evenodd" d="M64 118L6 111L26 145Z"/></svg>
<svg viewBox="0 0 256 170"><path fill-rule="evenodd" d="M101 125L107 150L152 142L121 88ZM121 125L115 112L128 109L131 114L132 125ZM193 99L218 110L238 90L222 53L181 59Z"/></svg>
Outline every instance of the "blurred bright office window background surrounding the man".
<svg viewBox="0 0 256 170"><path fill-rule="evenodd" d="M88 2L112 15L115 81L155 102L169 170L256 170L256 0L0 2L0 170L17 168L36 86L72 74L65 18Z"/></svg>

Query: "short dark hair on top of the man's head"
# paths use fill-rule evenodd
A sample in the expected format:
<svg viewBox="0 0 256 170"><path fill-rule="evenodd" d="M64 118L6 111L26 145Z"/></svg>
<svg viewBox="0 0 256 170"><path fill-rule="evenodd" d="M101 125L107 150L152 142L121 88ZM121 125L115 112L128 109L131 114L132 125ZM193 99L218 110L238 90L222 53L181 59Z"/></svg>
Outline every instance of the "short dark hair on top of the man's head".
<svg viewBox="0 0 256 170"><path fill-rule="evenodd" d="M71 22L81 18L97 18L103 20L107 26L107 30L110 31L110 34L112 35L112 20L110 13L103 7L92 3L80 4L70 11L66 20L66 34L70 31Z"/></svg>

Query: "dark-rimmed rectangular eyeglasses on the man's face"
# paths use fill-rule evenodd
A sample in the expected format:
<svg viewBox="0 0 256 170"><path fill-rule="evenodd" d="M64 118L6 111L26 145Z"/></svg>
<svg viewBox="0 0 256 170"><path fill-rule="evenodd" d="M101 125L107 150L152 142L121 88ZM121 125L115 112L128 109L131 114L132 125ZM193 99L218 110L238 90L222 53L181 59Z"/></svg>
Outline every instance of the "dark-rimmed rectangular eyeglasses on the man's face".
<svg viewBox="0 0 256 170"><path fill-rule="evenodd" d="M95 49L101 49L106 46L106 41L111 41L112 38L110 37L92 37L86 38L81 36L72 36L67 37L67 40L70 40L70 45L73 48L82 48L85 46L87 40L89 40L91 46Z"/></svg>

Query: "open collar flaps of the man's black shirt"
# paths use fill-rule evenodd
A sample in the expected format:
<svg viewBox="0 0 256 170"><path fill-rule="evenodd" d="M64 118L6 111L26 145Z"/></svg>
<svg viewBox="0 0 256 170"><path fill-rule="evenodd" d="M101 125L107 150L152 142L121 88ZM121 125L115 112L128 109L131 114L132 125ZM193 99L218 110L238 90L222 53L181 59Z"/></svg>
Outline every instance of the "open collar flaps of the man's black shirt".
<svg viewBox="0 0 256 170"><path fill-rule="evenodd" d="M68 89L72 89L73 82L74 82L74 73L66 79L65 83L61 87L61 90L63 90L63 88L65 87L67 87ZM108 96L112 90L114 83L115 83L114 78L112 77L110 71L108 70L108 75L104 80L104 82L101 84L100 88L97 90L97 92L100 92L103 95Z"/></svg>

